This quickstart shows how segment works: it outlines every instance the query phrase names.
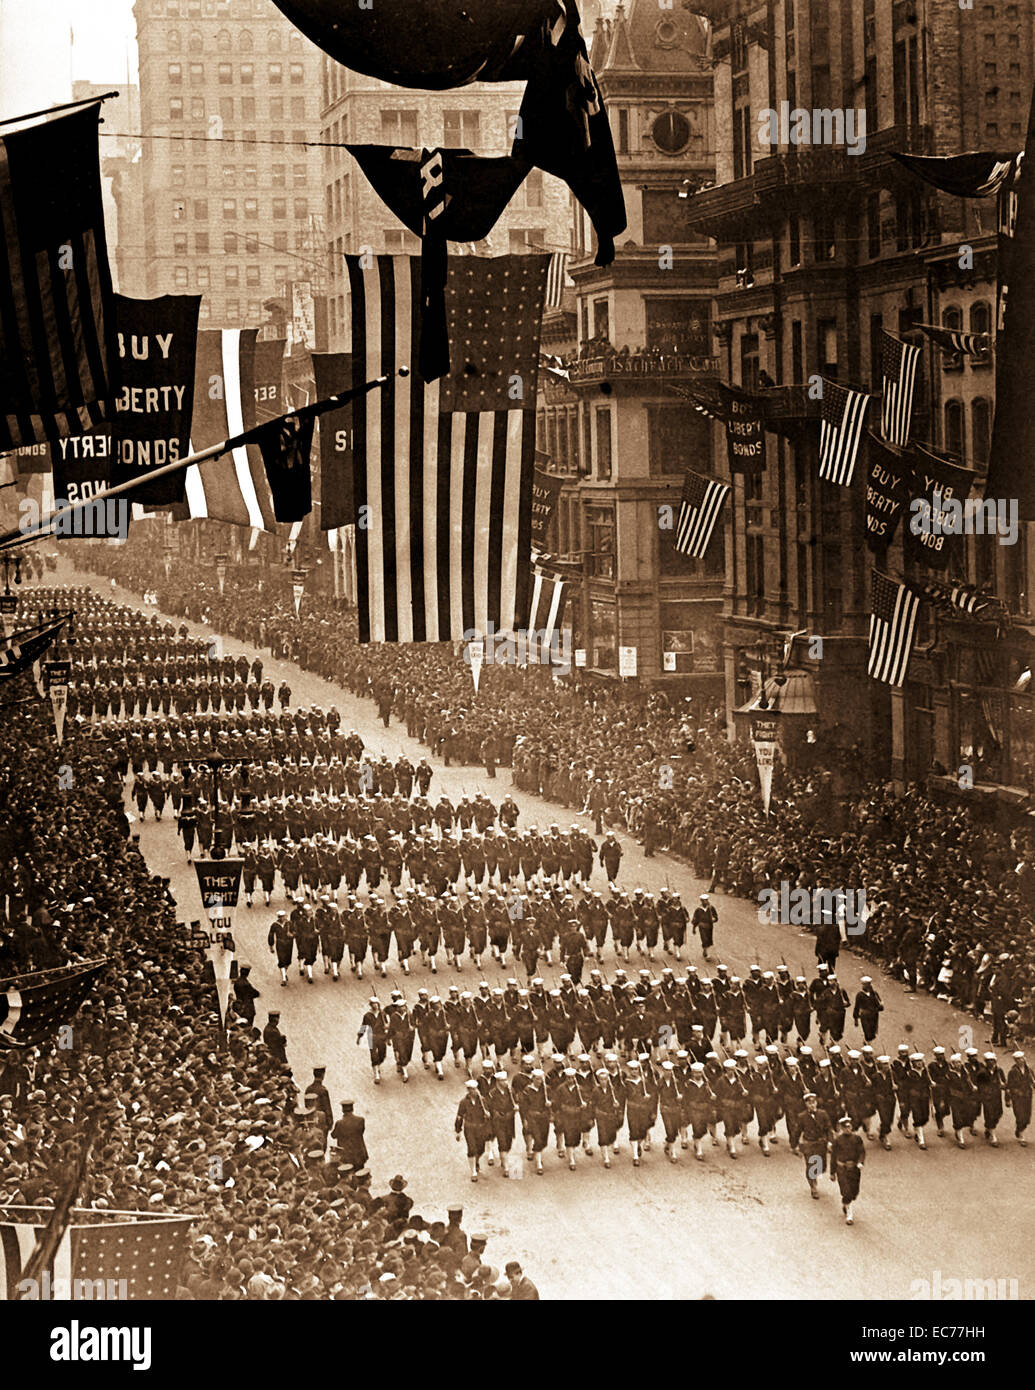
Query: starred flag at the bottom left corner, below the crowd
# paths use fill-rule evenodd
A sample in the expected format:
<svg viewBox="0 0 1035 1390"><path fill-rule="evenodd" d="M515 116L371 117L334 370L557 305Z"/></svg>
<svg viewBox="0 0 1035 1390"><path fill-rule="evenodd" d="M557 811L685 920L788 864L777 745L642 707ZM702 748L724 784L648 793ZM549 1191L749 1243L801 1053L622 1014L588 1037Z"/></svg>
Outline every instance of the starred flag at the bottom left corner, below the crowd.
<svg viewBox="0 0 1035 1390"><path fill-rule="evenodd" d="M0 1207L0 1300L18 1298L18 1283L51 1220L53 1209L46 1207ZM193 1216L72 1211L47 1265L51 1297L175 1298L192 1225ZM76 1280L82 1280L78 1289ZM104 1282L103 1290L97 1280Z"/></svg>

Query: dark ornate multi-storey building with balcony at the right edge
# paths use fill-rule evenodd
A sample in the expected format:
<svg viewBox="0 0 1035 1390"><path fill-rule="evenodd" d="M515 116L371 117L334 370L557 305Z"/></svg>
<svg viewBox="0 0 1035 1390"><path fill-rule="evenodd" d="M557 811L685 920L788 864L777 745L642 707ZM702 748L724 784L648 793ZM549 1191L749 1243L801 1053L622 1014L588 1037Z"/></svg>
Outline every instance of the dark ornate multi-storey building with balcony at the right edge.
<svg viewBox="0 0 1035 1390"><path fill-rule="evenodd" d="M1024 669L1021 624L1031 621L1029 528L1010 548L970 546L970 575L995 584L1017 617L1014 638L996 648L992 667L982 659L978 670L986 631L946 624L924 605L906 685L868 678L867 450L853 486L818 477L820 400L807 389L822 377L878 398L881 331L914 341L922 370L913 438L981 473L992 370L986 361L943 361L914 325L988 328L995 200L938 193L891 152L1022 145L1035 54L1031 7L729 0L710 13L717 186L695 195L689 221L720 242L722 375L752 389L761 384L768 441L765 473L736 478L731 499L724 610L731 723L772 674L784 637L802 631L822 641L795 651L793 666L806 676L785 688L813 717L797 721L803 746L789 753L832 766L841 752L867 776L904 781L952 773L968 752L981 760L975 749L984 739L986 751L995 744L984 758L989 773L1031 778L1031 734L1027 771L1025 755L1009 752L1011 742L1024 748L1020 724L1014 735L1010 721L1025 703L1011 687ZM784 103L788 111L804 108L811 140L789 139L789 124L778 118ZM864 129L854 147L852 129L856 136ZM964 247L972 256L961 254ZM868 423L879 428L878 399ZM904 573L900 534L881 563ZM996 730L985 720L982 734L974 710L992 706ZM1018 720L1021 713L1031 730L1029 696ZM746 733L746 719L738 723Z"/></svg>

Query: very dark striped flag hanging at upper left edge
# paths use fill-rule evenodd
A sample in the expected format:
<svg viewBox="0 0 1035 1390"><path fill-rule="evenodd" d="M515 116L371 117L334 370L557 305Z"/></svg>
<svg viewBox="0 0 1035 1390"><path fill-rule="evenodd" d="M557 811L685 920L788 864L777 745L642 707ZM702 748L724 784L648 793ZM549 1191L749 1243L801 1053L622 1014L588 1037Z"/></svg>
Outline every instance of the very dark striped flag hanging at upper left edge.
<svg viewBox="0 0 1035 1390"><path fill-rule="evenodd" d="M0 138L0 450L114 413L100 101Z"/></svg>

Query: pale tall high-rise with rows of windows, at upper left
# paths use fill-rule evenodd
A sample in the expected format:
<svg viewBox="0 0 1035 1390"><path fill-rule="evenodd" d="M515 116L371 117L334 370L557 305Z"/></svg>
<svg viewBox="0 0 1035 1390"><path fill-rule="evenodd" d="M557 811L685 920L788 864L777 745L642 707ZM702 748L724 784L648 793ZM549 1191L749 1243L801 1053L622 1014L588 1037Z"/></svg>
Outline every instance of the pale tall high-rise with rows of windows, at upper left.
<svg viewBox="0 0 1035 1390"><path fill-rule="evenodd" d="M318 49L271 0L136 0L142 282L203 327L281 332L324 272ZM314 142L314 143L307 143Z"/></svg>

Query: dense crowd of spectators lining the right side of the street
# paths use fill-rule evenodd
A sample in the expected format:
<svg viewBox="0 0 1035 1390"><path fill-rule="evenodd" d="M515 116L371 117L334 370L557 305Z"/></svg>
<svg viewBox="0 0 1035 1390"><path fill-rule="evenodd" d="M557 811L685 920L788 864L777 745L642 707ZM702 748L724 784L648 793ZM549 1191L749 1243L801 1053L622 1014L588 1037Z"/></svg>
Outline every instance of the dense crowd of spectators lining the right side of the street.
<svg viewBox="0 0 1035 1390"><path fill-rule="evenodd" d="M225 596L210 571L165 581L143 546L89 552L100 573L154 588L164 612L201 619L371 698L433 753L513 767L517 787L597 824L625 830L649 853L668 849L727 892L765 888L864 892L866 933L849 941L910 988L982 1015L989 981L1011 992L1021 1036L1035 1036L1035 827L992 826L963 802L911 785L792 773L777 764L771 813L752 751L729 742L721 710L664 694L558 680L549 667L488 664L475 692L449 645L361 645L353 613L242 569ZM232 588L232 594L231 594Z"/></svg>

